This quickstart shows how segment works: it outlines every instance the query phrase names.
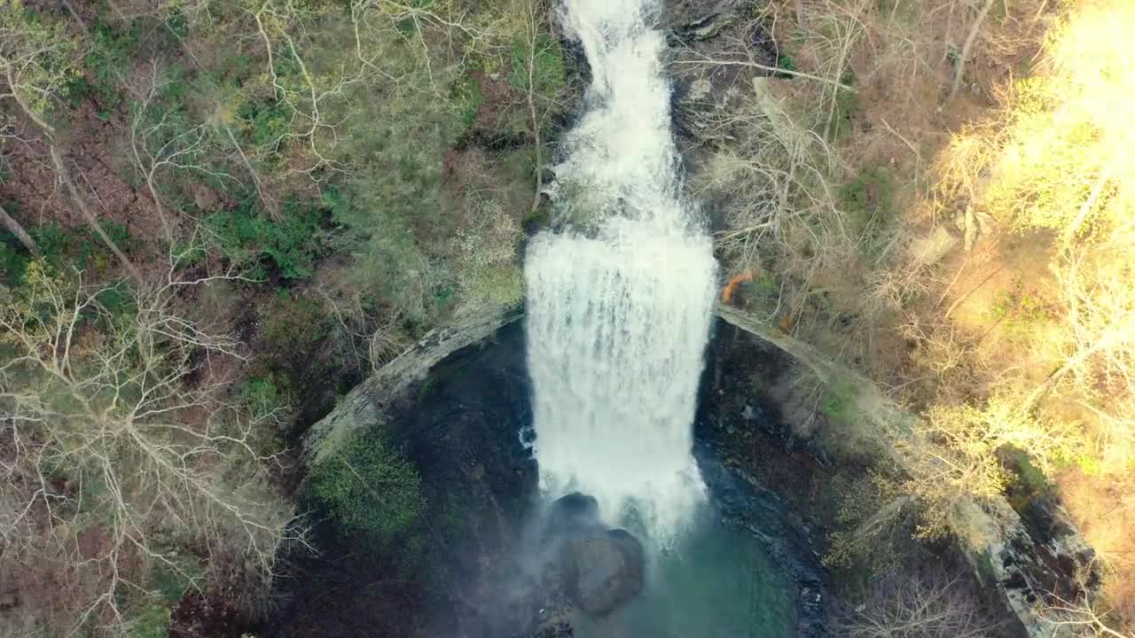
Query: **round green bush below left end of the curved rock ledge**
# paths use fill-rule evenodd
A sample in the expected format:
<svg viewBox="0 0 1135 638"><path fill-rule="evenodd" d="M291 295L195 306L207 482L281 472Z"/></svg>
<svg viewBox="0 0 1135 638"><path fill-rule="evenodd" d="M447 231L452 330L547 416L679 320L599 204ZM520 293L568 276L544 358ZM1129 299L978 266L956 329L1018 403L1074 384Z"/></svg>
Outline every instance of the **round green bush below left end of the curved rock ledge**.
<svg viewBox="0 0 1135 638"><path fill-rule="evenodd" d="M375 430L348 435L308 478L306 497L345 534L389 544L426 509L418 469Z"/></svg>

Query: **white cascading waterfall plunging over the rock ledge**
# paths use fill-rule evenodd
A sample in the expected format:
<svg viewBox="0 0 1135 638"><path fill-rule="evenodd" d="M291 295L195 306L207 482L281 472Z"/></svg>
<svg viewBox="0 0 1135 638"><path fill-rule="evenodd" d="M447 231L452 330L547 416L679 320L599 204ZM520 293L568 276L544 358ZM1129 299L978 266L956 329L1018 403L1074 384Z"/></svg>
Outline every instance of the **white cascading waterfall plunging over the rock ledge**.
<svg viewBox="0 0 1135 638"><path fill-rule="evenodd" d="M679 195L665 41L651 0L565 0L590 62L555 167L556 212L526 262L535 452L552 497L629 509L657 540L704 497L692 448L716 263Z"/></svg>

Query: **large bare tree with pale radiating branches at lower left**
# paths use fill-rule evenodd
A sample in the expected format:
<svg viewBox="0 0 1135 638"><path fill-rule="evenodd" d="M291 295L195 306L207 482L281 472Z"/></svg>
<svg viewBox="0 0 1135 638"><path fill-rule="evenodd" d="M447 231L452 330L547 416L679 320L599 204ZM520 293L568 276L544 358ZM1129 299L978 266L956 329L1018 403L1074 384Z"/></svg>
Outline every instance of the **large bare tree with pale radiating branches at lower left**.
<svg viewBox="0 0 1135 638"><path fill-rule="evenodd" d="M126 622L124 605L149 596L153 569L197 584L185 544L263 587L295 538L291 506L266 481L274 410L253 410L212 373L241 356L236 339L175 311L187 288L234 275L175 271L131 288L35 263L0 304L3 560L58 548L48 555L86 584L73 630ZM106 542L67 549L89 534Z"/></svg>

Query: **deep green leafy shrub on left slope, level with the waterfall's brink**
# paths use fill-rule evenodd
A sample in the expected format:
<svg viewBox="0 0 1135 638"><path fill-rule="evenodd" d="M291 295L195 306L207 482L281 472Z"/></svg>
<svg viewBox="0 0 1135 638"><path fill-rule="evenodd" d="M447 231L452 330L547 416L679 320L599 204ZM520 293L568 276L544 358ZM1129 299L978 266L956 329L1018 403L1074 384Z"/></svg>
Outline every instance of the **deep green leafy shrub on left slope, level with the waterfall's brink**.
<svg viewBox="0 0 1135 638"><path fill-rule="evenodd" d="M280 219L272 220L246 201L239 208L210 215L204 225L230 259L252 267L252 277L266 277L271 267L285 279L304 279L327 252L323 216L320 208L291 199L281 207Z"/></svg>

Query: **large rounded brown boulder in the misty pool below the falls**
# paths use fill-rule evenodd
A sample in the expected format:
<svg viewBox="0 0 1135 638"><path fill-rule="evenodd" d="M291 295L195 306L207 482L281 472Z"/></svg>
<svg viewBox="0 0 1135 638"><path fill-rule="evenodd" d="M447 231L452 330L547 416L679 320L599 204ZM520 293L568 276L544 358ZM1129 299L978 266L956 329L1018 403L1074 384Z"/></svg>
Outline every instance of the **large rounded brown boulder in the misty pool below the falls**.
<svg viewBox="0 0 1135 638"><path fill-rule="evenodd" d="M603 615L642 589L642 545L622 529L564 540L560 551L568 595L579 608Z"/></svg>

